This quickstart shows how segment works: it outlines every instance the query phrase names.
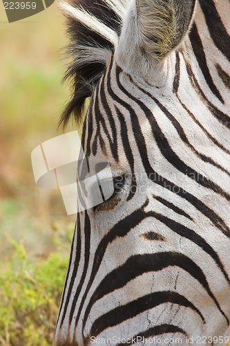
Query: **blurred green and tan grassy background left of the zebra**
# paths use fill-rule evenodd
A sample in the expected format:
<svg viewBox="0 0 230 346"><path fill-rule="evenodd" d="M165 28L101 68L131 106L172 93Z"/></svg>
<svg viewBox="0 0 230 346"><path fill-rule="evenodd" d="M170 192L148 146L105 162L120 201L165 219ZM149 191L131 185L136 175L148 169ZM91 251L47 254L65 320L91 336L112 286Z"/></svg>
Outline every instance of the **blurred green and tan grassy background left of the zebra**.
<svg viewBox="0 0 230 346"><path fill-rule="evenodd" d="M11 24L0 3L0 345L52 345L75 216L30 154L62 133L65 37L57 3Z"/></svg>

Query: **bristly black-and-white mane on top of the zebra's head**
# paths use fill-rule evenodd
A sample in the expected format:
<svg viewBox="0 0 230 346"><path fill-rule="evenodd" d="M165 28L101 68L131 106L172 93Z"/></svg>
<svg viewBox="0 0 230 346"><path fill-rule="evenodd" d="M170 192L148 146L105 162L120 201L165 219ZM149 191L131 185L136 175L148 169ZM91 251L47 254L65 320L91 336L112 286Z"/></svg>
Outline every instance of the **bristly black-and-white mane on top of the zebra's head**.
<svg viewBox="0 0 230 346"><path fill-rule="evenodd" d="M73 115L80 122L86 98L95 90L106 62L117 46L126 0L73 0L60 3L67 17L70 64L64 80L73 84L73 95L61 116L66 125Z"/></svg>

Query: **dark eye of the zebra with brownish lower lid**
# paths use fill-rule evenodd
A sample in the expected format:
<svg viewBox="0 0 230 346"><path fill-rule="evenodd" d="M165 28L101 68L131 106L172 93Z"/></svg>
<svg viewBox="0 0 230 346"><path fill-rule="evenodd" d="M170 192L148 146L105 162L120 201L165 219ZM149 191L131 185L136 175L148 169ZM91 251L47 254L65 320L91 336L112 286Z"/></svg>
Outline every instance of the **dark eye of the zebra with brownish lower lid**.
<svg viewBox="0 0 230 346"><path fill-rule="evenodd" d="M95 206L93 208L93 211L112 210L113 208L115 208L119 201L121 201L121 197L119 196L119 194L124 188L124 183L124 176L115 176L113 178L113 194L110 194L110 197L108 197L108 199L106 199L106 196L104 195L104 202L99 204L98 206ZM103 181L101 182L100 190L106 190Z"/></svg>

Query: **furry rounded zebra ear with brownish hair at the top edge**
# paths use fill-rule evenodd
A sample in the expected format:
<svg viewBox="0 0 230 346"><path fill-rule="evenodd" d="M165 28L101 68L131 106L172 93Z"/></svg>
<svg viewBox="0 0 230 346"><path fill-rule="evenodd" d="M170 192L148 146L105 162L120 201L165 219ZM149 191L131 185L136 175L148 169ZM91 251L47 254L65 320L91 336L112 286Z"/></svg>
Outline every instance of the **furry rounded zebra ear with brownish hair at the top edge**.
<svg viewBox="0 0 230 346"><path fill-rule="evenodd" d="M132 0L117 60L137 69L156 65L177 48L191 26L196 0ZM143 66L143 68L147 66Z"/></svg>

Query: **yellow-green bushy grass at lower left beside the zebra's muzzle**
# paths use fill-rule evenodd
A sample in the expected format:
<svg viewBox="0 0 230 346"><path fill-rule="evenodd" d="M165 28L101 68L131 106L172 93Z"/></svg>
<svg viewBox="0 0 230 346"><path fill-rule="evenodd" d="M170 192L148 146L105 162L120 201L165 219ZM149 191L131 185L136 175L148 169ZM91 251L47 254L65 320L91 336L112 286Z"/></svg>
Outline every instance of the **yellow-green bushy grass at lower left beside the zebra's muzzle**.
<svg viewBox="0 0 230 346"><path fill-rule="evenodd" d="M36 261L7 237L14 255L0 275L1 345L52 345L72 234L72 224L55 230L59 249Z"/></svg>

